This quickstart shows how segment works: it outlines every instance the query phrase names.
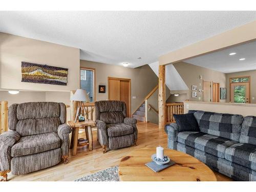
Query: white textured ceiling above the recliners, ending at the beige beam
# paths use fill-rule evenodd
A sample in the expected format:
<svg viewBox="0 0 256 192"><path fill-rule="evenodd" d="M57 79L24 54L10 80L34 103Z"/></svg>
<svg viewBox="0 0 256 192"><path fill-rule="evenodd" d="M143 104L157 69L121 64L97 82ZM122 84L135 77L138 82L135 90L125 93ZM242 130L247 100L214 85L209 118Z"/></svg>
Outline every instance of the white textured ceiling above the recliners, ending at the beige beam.
<svg viewBox="0 0 256 192"><path fill-rule="evenodd" d="M84 60L135 68L255 19L256 11L0 11L0 31L79 48Z"/></svg>

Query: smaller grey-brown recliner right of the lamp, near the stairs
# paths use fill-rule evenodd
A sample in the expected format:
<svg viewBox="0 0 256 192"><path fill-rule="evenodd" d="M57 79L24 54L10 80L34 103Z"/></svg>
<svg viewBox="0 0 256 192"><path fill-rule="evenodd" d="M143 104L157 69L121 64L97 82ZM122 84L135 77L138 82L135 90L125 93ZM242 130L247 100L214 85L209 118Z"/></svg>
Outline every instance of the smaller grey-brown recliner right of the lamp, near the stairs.
<svg viewBox="0 0 256 192"><path fill-rule="evenodd" d="M106 148L137 145L137 120L126 117L126 104L123 101L95 102L98 141L106 153Z"/></svg>

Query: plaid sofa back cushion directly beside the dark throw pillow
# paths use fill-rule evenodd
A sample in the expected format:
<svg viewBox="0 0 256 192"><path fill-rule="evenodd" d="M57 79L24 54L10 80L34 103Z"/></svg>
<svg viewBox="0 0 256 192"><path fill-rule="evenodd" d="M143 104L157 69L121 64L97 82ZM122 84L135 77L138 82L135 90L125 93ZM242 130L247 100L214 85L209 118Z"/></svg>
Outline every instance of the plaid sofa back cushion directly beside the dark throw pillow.
<svg viewBox="0 0 256 192"><path fill-rule="evenodd" d="M194 116L201 132L239 141L242 115L197 111Z"/></svg>

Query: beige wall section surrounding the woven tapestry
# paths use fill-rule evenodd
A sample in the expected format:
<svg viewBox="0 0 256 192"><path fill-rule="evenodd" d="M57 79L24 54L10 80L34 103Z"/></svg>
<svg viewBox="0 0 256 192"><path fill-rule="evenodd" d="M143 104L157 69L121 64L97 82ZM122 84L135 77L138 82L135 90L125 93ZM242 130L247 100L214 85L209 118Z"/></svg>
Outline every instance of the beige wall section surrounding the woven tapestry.
<svg viewBox="0 0 256 192"><path fill-rule="evenodd" d="M21 62L69 69L67 86L21 82ZM0 33L0 89L70 91L79 87L80 51L46 41Z"/></svg>

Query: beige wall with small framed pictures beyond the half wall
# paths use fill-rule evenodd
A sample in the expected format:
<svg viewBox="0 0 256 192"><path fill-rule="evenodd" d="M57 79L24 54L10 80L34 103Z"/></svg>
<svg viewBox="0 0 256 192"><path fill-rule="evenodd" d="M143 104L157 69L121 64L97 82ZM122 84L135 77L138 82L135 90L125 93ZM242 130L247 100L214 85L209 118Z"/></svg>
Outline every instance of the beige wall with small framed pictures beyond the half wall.
<svg viewBox="0 0 256 192"><path fill-rule="evenodd" d="M203 92L198 91L197 98L192 98L191 86L197 86L197 89L203 90L203 80L214 81L220 83L220 88L226 87L226 75L218 71L206 69L203 67L195 66L186 62L178 62L174 64L175 69L178 71L184 82L189 89L189 100L191 101L203 101ZM202 75L202 79L199 78ZM200 99L201 98L201 99ZM211 94L212 98L212 94ZM225 99L220 102L226 102Z"/></svg>

